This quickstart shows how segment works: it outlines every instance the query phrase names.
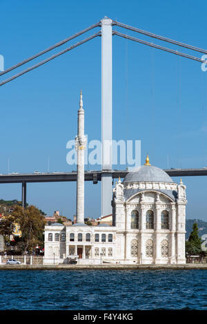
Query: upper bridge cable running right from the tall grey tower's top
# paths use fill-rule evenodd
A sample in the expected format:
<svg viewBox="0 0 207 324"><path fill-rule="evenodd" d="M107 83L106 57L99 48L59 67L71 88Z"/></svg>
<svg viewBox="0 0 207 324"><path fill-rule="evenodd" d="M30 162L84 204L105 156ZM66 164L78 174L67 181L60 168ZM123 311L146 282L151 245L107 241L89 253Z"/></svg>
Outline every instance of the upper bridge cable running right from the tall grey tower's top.
<svg viewBox="0 0 207 324"><path fill-rule="evenodd" d="M153 37L153 38L156 38L156 39L160 39L161 41L167 41L168 43L175 44L177 46L181 46L181 47L184 47L184 48L188 48L190 50L195 50L196 52L207 54L207 50L204 50L203 48L188 45L188 44L185 44L185 43L181 43L181 41L175 41L175 40L167 38L167 37L156 35L156 34L153 34L152 32L147 32L146 30L141 30L139 28L128 26L125 23L119 23L118 21L113 21L113 25L116 25L116 26L119 26L119 27L122 27L122 28L126 28L126 29L132 30L134 32L139 32L140 34L143 34L143 35L146 35L146 36L149 36L149 37Z"/></svg>

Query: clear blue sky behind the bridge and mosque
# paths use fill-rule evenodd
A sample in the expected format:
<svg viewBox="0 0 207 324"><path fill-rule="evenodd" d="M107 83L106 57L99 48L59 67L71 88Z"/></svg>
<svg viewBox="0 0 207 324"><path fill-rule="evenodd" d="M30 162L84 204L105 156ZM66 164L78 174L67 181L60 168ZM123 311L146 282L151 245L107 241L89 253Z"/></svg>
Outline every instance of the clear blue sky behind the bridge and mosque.
<svg viewBox="0 0 207 324"><path fill-rule="evenodd" d="M206 8L206 3L198 6L195 1L0 0L0 54L8 68L105 15L207 48ZM65 44L61 49L67 47ZM201 57L200 53L184 51ZM25 67L37 61L40 59ZM0 173L8 172L8 159L10 172L47 171L48 157L50 171L72 170L66 163L66 143L77 134L80 89L88 139L100 140L100 38L1 87ZM113 138L141 140L142 164L148 152L151 164L163 169L168 162L170 167L207 166L207 72L201 71L201 64L114 37ZM207 220L207 178L183 181L187 186L187 218ZM60 210L72 217L75 193L75 183L28 184L28 202L49 215ZM21 200L21 185L1 184L0 198ZM101 185L86 183L86 216L100 215L100 198Z"/></svg>

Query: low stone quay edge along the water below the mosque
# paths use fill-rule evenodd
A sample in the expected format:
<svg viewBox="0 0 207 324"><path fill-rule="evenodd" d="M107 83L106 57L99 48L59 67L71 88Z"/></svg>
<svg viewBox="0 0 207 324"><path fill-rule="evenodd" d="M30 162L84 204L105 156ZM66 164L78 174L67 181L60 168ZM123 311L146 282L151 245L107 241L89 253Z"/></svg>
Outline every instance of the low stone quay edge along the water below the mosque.
<svg viewBox="0 0 207 324"><path fill-rule="evenodd" d="M207 270L207 263L185 265L0 265L1 270Z"/></svg>

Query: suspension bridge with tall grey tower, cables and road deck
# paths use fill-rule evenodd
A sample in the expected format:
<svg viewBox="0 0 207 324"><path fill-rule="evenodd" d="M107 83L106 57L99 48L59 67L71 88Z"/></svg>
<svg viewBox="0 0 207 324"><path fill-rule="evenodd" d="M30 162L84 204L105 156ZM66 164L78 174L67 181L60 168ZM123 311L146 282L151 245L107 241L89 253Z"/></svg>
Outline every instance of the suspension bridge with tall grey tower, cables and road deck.
<svg viewBox="0 0 207 324"><path fill-rule="evenodd" d="M50 50L55 48L59 48L63 44L66 44L81 35L86 34L90 30L94 30L97 28L101 28L94 34L78 41L76 44L71 45L70 47L61 50L59 53L40 61L25 70L22 70L20 73L9 77L8 79L4 79L0 82L0 86L8 84L12 82L14 79L21 77L21 75L25 75L29 73L31 70L39 68L43 64L48 63L52 59L59 57L65 53L68 53L70 50L77 48L85 44L92 39L97 37L101 37L101 142L102 142L102 168L100 171L85 171L85 180L92 181L96 184L98 181L101 181L101 215L105 216L111 213L111 197L112 197L112 180L115 178L124 178L128 171L115 171L112 169L112 37L122 37L124 39L129 39L130 41L135 41L139 44L143 44L145 46L150 46L152 48L156 48L158 50L162 50L166 53L170 53L173 55L178 55L180 57L184 57L186 59L190 59L193 61L198 61L200 63L206 63L204 59L201 59L197 56L189 55L188 53L181 52L179 50L172 50L171 48L160 46L149 41L144 41L137 37L132 37L130 35L126 35L123 32L118 31L116 28L120 28L121 30L130 30L132 32L136 32L137 34L145 35L147 37L158 39L159 41L164 41L168 44L173 44L174 46L179 46L179 48L184 48L187 50L193 50L197 53L207 54L207 50L203 48L198 48L196 46L192 46L189 44L182 43L180 41L176 41L173 39L169 39L167 37L156 35L152 32L148 32L146 30L141 30L139 28L135 28L133 26L128 26L124 23L120 23L118 21L114 21L109 19L108 17L104 17L101 21L89 26L88 28L77 32L75 35L72 35L62 41L59 41L57 44L42 50L41 52L29 57L28 59L24 59L23 61L7 68L3 72L0 73L0 77L10 73L27 64L28 62L36 59L37 57L41 57L41 55L49 53ZM108 145L104 145L104 143L108 143ZM168 169L164 170L168 175L172 177L177 176L197 176L197 175L207 175L207 169ZM6 174L0 175L0 183L21 183L22 184L22 204L23 207L26 207L26 183L27 182L63 182L63 181L76 181L77 173L38 173L38 174Z"/></svg>

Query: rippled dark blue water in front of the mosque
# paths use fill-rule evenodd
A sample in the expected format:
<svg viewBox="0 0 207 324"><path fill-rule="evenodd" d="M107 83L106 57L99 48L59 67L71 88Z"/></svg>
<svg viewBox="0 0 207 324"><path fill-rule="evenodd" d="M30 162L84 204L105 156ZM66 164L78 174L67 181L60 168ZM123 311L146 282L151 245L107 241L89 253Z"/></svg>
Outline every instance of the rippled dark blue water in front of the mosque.
<svg viewBox="0 0 207 324"><path fill-rule="evenodd" d="M207 270L0 271L0 309L207 309Z"/></svg>

